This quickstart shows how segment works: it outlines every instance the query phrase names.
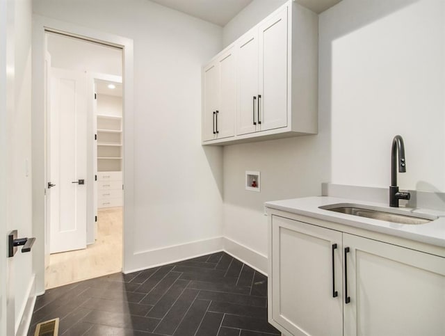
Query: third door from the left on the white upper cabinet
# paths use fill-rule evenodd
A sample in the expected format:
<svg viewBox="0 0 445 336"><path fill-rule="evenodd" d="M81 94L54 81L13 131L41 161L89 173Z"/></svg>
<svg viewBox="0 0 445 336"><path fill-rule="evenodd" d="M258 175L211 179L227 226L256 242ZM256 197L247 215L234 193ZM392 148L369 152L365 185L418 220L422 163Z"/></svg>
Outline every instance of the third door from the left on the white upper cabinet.
<svg viewBox="0 0 445 336"><path fill-rule="evenodd" d="M258 35L257 29L243 35L238 49L238 122L236 134L257 130Z"/></svg>

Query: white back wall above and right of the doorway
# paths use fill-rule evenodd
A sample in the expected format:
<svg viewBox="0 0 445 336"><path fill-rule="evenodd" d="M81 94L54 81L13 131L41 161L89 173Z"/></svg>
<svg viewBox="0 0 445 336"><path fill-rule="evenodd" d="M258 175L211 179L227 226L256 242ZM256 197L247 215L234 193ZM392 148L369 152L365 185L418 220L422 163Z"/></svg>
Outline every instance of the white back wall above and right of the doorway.
<svg viewBox="0 0 445 336"><path fill-rule="evenodd" d="M135 168L127 173L135 187L125 192L135 219L124 225L134 257L126 269L168 261L152 250L220 237L222 151L200 146L200 72L220 51L222 29L147 0L37 0L33 10L133 39Z"/></svg>

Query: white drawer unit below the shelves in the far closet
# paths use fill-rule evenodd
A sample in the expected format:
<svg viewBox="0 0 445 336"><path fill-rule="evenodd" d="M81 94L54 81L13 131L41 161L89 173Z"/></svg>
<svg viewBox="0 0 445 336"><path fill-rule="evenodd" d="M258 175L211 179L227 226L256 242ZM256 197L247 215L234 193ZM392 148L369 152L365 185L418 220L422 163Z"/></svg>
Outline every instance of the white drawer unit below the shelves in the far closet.
<svg viewBox="0 0 445 336"><path fill-rule="evenodd" d="M97 173L97 207L122 206L122 172Z"/></svg>

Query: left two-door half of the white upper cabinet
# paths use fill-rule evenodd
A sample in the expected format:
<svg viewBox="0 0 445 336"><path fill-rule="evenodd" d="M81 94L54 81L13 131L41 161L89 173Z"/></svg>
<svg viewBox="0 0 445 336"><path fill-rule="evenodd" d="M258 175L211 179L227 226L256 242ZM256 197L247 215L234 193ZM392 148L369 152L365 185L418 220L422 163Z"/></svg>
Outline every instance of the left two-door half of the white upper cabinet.
<svg viewBox="0 0 445 336"><path fill-rule="evenodd" d="M236 59L234 48L219 54L202 71L202 141L235 134Z"/></svg>

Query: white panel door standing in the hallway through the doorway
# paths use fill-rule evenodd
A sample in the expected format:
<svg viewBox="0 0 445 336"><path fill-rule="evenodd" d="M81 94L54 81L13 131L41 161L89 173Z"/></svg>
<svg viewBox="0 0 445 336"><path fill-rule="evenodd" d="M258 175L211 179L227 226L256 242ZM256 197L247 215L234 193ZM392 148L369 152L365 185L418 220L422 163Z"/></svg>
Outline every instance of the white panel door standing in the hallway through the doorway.
<svg viewBox="0 0 445 336"><path fill-rule="evenodd" d="M86 248L86 74L51 69L51 253Z"/></svg>

